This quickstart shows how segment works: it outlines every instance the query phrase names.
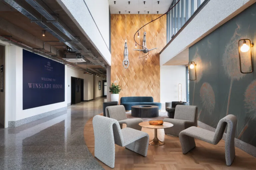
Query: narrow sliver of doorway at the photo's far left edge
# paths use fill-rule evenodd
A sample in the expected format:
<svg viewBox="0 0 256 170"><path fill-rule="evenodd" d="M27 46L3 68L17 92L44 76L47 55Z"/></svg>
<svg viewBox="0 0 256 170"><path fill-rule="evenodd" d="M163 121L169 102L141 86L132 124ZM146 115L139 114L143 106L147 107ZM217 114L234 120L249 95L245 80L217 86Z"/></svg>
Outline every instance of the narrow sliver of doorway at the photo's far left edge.
<svg viewBox="0 0 256 170"><path fill-rule="evenodd" d="M0 128L5 128L5 46L0 44Z"/></svg>

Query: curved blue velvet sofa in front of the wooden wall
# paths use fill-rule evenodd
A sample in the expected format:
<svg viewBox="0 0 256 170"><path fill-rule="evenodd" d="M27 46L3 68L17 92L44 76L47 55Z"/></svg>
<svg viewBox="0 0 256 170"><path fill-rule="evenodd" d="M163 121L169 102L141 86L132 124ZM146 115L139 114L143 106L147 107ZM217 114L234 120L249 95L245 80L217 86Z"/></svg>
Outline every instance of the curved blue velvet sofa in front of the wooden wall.
<svg viewBox="0 0 256 170"><path fill-rule="evenodd" d="M135 105L153 105L162 108L161 103L154 102L153 97L121 97L120 105L123 105L126 111L132 110Z"/></svg>

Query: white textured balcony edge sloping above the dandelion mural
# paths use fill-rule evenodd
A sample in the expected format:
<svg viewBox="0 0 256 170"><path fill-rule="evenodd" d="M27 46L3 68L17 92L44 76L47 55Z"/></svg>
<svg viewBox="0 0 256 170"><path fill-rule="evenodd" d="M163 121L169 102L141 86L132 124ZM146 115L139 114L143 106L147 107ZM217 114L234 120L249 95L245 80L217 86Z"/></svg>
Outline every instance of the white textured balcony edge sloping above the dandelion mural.
<svg viewBox="0 0 256 170"><path fill-rule="evenodd" d="M173 42L160 54L160 65L165 64L184 49L210 34L254 2L255 0L209 1Z"/></svg>

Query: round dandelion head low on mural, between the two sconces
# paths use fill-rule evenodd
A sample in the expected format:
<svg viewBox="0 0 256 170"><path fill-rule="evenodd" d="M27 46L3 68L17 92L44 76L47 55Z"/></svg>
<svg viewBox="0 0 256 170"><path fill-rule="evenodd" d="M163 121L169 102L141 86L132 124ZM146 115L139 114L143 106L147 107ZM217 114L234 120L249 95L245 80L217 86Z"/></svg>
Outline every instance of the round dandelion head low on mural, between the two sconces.
<svg viewBox="0 0 256 170"><path fill-rule="evenodd" d="M206 110L209 115L212 115L215 108L215 95L212 86L209 83L203 83L200 88L200 100L202 108ZM198 118L202 110L199 112Z"/></svg>

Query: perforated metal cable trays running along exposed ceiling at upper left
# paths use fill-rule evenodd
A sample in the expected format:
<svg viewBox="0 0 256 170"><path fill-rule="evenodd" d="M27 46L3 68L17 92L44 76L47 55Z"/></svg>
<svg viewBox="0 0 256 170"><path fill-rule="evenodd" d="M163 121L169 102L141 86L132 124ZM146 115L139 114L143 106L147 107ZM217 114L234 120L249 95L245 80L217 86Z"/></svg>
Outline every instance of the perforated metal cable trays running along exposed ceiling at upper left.
<svg viewBox="0 0 256 170"><path fill-rule="evenodd" d="M88 50L86 47L83 46L83 44L80 42L79 38L73 36L67 29L65 29L61 21L58 19L56 20L51 14L49 14L38 2L35 0L25 0L29 5L31 5L35 10L37 10L47 21L43 22L42 20L39 20L36 16L28 12L25 8L23 8L21 5L19 5L15 0L4 0L6 3L11 5L13 8L15 8L17 11L22 13L24 16L29 18L31 22L36 23L40 27L42 27L44 30L52 34L54 37L56 37L60 42L65 43L67 46L72 48L78 53L84 54L84 57L90 61L93 65L101 65L104 69L106 67L104 66L104 63L101 62L96 56L94 56L90 50ZM66 38L62 37L56 31L54 31L47 23L51 23L53 26L55 26L61 33L63 33L69 40L66 40ZM93 69L91 69L93 70ZM100 72L102 73L102 72Z"/></svg>

